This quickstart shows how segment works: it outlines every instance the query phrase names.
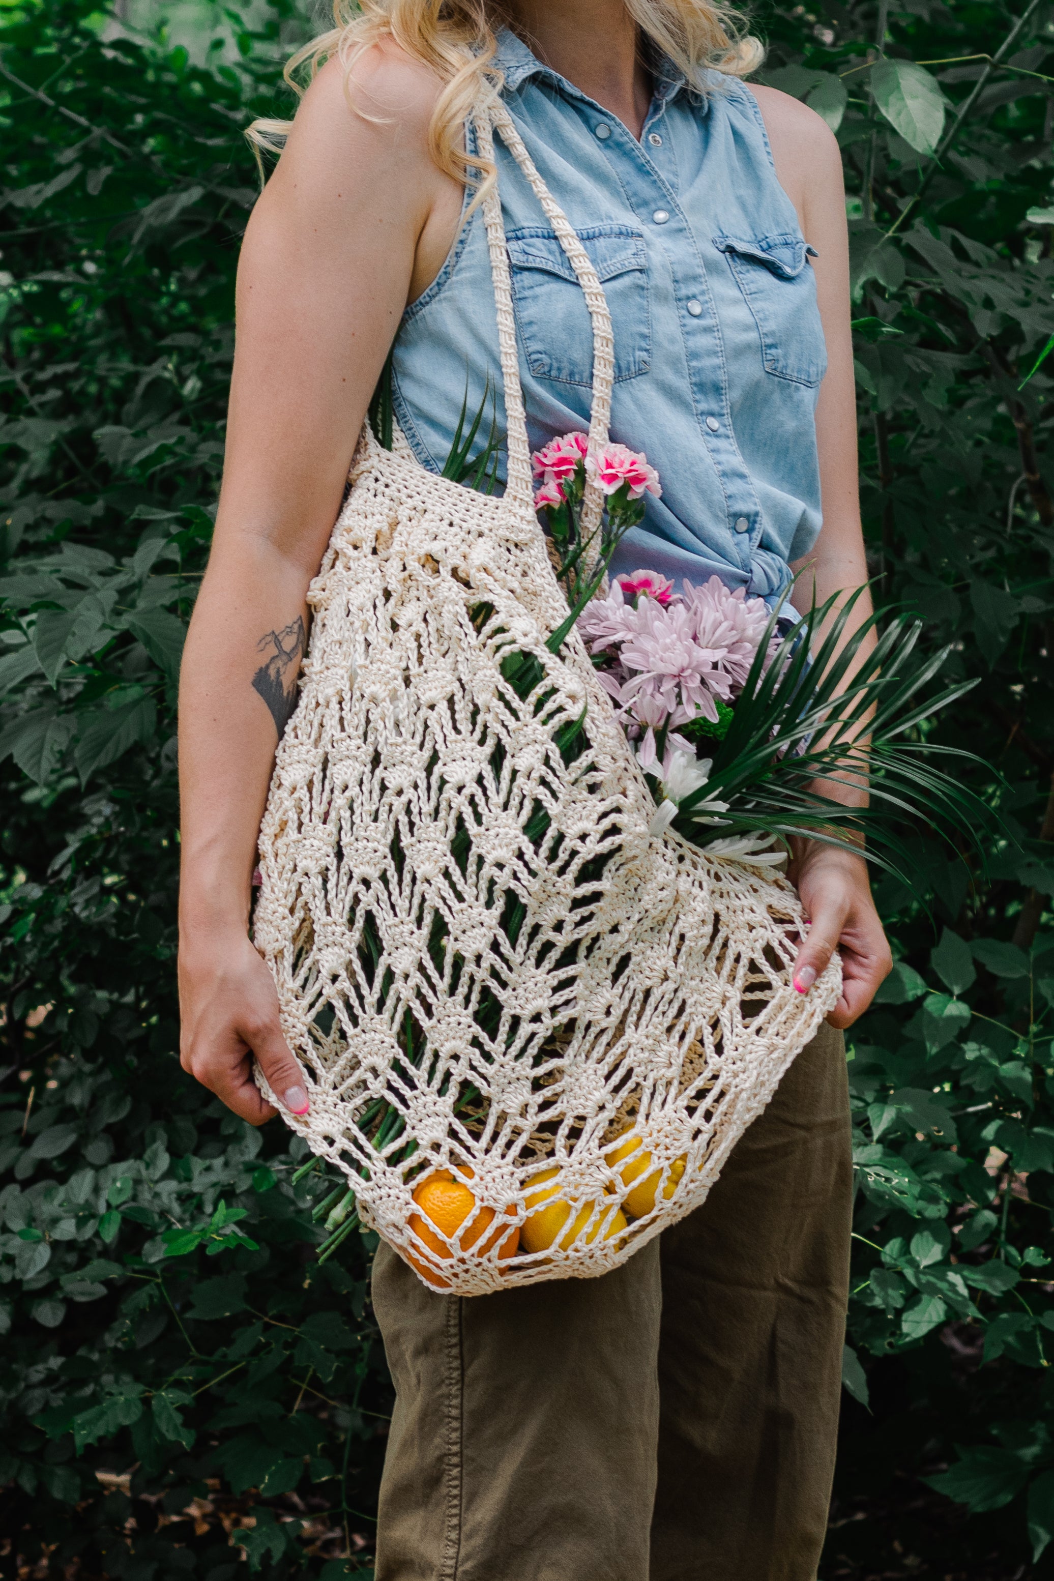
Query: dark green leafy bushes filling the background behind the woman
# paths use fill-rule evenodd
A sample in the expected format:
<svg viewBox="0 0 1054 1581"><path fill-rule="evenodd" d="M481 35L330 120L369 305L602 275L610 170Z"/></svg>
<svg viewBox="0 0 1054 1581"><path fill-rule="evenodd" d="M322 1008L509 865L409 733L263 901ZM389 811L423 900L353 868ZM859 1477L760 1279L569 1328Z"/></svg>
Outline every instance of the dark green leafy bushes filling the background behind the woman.
<svg viewBox="0 0 1054 1581"><path fill-rule="evenodd" d="M879 598L980 677L939 729L1021 843L981 871L920 832L931 915L879 884L823 1581L1054 1575L1054 357L1022 384L1054 330L1054 5L1014 5L757 14L844 150ZM92 0L0 0L0 1565L335 1581L371 1573L390 1404L371 1247L319 1268L299 1143L175 1058L174 685L242 128L305 35L294 0L201 16L191 58Z"/></svg>

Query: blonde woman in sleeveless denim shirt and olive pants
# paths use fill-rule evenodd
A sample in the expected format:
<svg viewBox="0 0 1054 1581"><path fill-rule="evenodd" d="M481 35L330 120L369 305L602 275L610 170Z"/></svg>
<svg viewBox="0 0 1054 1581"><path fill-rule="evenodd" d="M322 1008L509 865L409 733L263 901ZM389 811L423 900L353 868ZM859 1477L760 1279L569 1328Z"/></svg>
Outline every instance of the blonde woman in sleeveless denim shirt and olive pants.
<svg viewBox="0 0 1054 1581"><path fill-rule="evenodd" d="M433 470L466 383L474 411L498 376L466 191L485 82L604 283L612 438L662 477L615 569L716 571L773 606L803 566L795 601L866 580L838 147L809 109L740 81L757 49L728 36L705 0L371 0L256 206L180 746L183 1064L253 1124L275 1113L253 1058L292 1113L308 1108L248 939L250 877L356 436L397 332L395 411ZM589 319L496 158L540 444L586 425ZM807 843L793 877L812 919L795 987L809 993L838 947L842 998L703 1208L602 1279L474 1300L425 1290L381 1246L398 1404L379 1581L815 1575L849 1260L839 1029L890 953L863 858Z"/></svg>

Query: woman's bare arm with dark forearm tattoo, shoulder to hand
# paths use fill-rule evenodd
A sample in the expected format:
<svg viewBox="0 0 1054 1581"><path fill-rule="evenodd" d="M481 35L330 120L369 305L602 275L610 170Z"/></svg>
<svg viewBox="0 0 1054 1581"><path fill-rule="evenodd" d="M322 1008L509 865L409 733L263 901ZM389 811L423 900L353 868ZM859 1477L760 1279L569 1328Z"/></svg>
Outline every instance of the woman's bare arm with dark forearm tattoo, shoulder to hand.
<svg viewBox="0 0 1054 1581"><path fill-rule="evenodd" d="M400 316L438 274L461 191L427 152L436 81L371 51L354 114L332 62L248 223L212 557L180 681L182 1061L258 1124L250 1050L294 1111L307 1092L248 939L275 746L295 700L307 590Z"/></svg>

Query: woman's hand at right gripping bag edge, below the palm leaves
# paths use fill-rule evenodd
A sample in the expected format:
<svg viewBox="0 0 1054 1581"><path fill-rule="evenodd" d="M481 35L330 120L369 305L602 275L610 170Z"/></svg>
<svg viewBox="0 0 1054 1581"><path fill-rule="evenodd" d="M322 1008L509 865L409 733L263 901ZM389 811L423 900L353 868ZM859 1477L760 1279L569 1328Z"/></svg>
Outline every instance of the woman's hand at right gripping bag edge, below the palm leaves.
<svg viewBox="0 0 1054 1581"><path fill-rule="evenodd" d="M868 863L850 851L809 840L796 846L789 877L812 923L795 961L795 988L809 993L838 950L842 993L826 1020L831 1026L852 1026L893 971L890 945L871 898Z"/></svg>

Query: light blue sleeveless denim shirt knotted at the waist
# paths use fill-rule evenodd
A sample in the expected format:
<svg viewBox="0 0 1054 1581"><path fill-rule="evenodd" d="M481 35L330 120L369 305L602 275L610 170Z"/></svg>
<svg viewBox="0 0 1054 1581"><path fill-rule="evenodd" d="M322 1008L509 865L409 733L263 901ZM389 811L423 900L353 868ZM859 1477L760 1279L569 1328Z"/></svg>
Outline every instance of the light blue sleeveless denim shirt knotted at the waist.
<svg viewBox="0 0 1054 1581"><path fill-rule="evenodd" d="M706 74L705 93L689 90L661 60L637 142L514 33L498 43L504 101L612 310L612 440L645 451L662 484L661 500L645 496L645 520L612 571L643 566L675 583L716 572L774 607L790 582L787 561L820 530L815 400L826 351L812 248L776 180L757 100L719 73ZM570 262L495 141L520 378L539 449L588 427L593 330ZM395 416L430 470L447 458L463 398L469 416L493 398L504 430L479 209L406 308L392 370ZM484 432L490 414L488 405Z"/></svg>

